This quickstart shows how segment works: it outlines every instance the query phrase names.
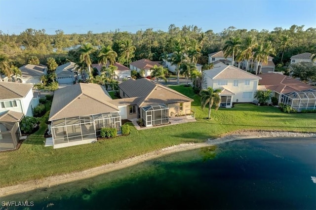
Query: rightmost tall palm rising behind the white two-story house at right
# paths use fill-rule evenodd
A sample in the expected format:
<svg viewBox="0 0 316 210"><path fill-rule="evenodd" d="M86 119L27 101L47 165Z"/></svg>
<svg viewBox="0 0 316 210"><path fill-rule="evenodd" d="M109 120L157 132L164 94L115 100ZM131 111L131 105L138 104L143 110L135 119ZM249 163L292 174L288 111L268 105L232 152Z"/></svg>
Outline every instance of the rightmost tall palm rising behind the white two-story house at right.
<svg viewBox="0 0 316 210"><path fill-rule="evenodd" d="M257 60L256 75L261 72L262 64L268 63L269 55L275 55L275 49L272 47L270 42L260 44L253 55L253 58ZM260 69L259 63L261 63Z"/></svg>

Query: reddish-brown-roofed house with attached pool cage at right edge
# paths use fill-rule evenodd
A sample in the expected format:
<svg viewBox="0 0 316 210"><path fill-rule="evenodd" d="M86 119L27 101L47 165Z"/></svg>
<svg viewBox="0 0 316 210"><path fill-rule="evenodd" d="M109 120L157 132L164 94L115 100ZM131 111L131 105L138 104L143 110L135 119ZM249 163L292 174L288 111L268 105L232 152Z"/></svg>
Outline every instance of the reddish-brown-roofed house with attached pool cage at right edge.
<svg viewBox="0 0 316 210"><path fill-rule="evenodd" d="M299 111L302 109L315 109L316 98L314 96L315 90L313 91L314 86L276 72L264 73L260 76L260 84L272 90L273 97L276 97L279 103L291 105L292 108ZM297 103L292 104L293 99L296 99Z"/></svg>

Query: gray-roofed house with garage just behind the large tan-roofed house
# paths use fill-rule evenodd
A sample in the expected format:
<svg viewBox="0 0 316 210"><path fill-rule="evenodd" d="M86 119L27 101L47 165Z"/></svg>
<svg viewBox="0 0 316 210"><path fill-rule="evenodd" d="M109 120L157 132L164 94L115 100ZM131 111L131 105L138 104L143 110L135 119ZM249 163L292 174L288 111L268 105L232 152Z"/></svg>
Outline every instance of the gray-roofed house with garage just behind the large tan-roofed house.
<svg viewBox="0 0 316 210"><path fill-rule="evenodd" d="M74 62L68 62L58 66L55 73L57 75L56 80L60 85L74 84L75 81L78 81L77 64Z"/></svg>

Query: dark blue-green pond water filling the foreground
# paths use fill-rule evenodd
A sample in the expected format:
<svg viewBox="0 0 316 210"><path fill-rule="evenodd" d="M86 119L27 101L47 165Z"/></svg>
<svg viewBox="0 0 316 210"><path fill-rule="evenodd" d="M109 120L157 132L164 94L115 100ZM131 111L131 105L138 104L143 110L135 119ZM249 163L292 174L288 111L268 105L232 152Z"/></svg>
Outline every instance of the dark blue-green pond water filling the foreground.
<svg viewBox="0 0 316 210"><path fill-rule="evenodd" d="M315 138L237 140L0 201L32 201L29 209L40 210L315 210L311 176L316 176Z"/></svg>

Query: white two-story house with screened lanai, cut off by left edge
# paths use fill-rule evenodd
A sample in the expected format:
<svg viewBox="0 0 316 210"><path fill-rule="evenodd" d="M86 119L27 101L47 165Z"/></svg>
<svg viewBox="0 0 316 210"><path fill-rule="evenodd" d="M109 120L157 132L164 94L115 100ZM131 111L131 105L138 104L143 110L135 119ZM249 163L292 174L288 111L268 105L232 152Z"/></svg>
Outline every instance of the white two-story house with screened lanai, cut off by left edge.
<svg viewBox="0 0 316 210"><path fill-rule="evenodd" d="M0 151L16 148L21 136L22 117L33 116L39 104L38 92L32 84L0 82Z"/></svg>

